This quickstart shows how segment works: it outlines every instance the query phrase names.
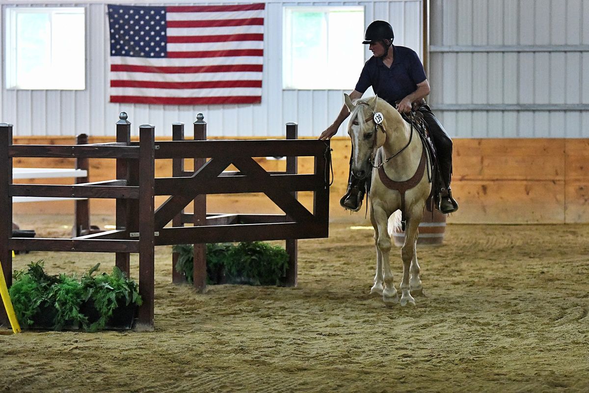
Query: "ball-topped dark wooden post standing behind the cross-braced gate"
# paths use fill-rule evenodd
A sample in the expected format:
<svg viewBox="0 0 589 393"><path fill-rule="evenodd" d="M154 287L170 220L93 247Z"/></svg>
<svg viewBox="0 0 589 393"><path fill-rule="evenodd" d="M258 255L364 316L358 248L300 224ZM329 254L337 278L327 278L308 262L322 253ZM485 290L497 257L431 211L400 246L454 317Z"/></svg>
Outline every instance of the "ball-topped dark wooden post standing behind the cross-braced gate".
<svg viewBox="0 0 589 393"><path fill-rule="evenodd" d="M194 140L207 140L207 123L202 113L197 114L194 122ZM206 158L194 158L194 171L206 163ZM204 225L207 222L207 195L200 194L194 198L193 205L194 226ZM204 292L207 287L207 245L194 243L194 288L198 292Z"/></svg>

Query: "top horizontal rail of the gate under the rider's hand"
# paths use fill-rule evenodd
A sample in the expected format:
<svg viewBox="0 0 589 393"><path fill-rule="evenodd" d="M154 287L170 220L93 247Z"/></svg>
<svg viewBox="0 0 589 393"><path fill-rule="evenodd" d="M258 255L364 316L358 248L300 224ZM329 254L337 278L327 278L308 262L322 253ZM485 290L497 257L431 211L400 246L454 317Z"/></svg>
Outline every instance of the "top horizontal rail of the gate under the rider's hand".
<svg viewBox="0 0 589 393"><path fill-rule="evenodd" d="M309 140L159 141L155 158L308 157L323 154L325 142Z"/></svg>

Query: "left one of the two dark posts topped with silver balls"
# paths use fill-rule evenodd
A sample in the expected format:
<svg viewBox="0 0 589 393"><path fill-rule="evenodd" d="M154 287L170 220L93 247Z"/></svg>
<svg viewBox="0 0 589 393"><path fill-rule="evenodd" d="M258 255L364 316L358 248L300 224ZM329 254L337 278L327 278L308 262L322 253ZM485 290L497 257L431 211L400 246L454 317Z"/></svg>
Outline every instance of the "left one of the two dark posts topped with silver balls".
<svg viewBox="0 0 589 393"><path fill-rule="evenodd" d="M119 121L117 121L117 142L124 143L127 146L131 144L131 123L127 121L127 113L121 112L118 115ZM116 158L117 160L117 180L129 181L129 164L127 158ZM129 185L129 184L127 184ZM130 200L118 199L116 202L115 210L115 224L118 230L129 230L129 217L131 215ZM115 253L115 265L121 269L122 272L126 272L127 276L130 276L128 252L117 252Z"/></svg>

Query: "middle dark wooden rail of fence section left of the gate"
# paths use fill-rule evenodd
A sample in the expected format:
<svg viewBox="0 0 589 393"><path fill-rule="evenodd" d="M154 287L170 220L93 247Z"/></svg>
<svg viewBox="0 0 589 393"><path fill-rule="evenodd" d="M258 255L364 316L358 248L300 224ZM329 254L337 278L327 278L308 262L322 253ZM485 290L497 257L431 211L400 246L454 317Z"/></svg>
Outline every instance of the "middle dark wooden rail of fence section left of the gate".
<svg viewBox="0 0 589 393"><path fill-rule="evenodd" d="M127 198L138 199L138 186L63 186L58 184L12 184L11 196L61 198Z"/></svg>

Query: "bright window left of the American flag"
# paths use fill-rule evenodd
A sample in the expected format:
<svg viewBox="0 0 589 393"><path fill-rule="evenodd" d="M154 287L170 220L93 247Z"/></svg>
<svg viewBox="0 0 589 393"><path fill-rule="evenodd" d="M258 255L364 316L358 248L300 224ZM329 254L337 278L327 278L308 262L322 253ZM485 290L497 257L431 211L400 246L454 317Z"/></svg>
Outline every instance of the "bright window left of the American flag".
<svg viewBox="0 0 589 393"><path fill-rule="evenodd" d="M6 87L84 90L84 8L6 8Z"/></svg>

